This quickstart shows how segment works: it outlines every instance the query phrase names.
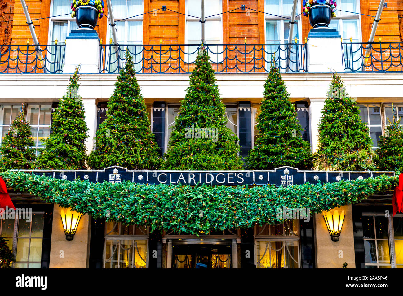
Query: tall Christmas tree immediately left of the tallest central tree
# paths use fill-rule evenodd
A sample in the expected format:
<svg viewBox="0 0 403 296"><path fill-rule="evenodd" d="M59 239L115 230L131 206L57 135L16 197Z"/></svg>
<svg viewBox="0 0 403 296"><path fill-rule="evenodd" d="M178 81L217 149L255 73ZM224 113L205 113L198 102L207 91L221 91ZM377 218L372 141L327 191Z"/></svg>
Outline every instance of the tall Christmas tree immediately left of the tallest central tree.
<svg viewBox="0 0 403 296"><path fill-rule="evenodd" d="M125 68L120 70L108 101L107 118L97 131L96 150L88 156L91 168L122 166L129 170L155 170L160 167L158 144L140 91L133 58L126 52Z"/></svg>

